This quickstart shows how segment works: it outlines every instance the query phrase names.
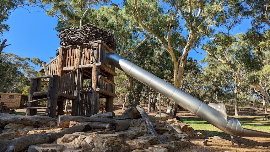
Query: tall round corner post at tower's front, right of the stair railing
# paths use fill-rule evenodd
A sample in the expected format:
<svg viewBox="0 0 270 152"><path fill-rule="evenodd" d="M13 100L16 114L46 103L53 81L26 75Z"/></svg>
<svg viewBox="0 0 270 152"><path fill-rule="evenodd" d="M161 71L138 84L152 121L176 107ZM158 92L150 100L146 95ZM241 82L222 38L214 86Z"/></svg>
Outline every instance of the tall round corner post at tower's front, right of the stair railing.
<svg viewBox="0 0 270 152"><path fill-rule="evenodd" d="M91 111L90 115L99 113L99 92L96 91L99 84L99 75L100 75L100 67L96 65L96 63L99 61L99 44L94 43L92 46L92 52L93 52L93 68L92 68L92 95L91 95Z"/></svg>

